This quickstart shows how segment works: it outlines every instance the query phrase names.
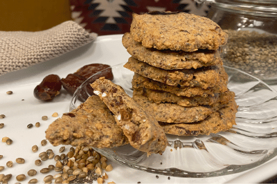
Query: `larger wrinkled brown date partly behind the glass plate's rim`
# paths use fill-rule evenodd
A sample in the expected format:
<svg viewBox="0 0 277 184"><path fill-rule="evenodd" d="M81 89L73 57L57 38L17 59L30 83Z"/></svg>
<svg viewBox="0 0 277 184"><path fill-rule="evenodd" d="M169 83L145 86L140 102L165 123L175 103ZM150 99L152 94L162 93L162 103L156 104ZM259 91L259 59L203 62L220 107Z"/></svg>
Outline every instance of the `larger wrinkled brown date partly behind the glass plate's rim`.
<svg viewBox="0 0 277 184"><path fill-rule="evenodd" d="M100 72L101 71L101 72ZM91 77L92 76L92 77ZM114 75L111 72L111 68L109 65L93 63L90 65L84 65L82 68L77 70L77 72L73 74L69 74L66 78L62 79L62 86L66 89L70 94L74 94L75 90L89 77L89 83L93 83L101 76L105 76L105 79L112 80L114 79ZM80 101L85 101L89 97L89 95L93 95L93 90L90 85L84 86L83 90L80 92Z"/></svg>

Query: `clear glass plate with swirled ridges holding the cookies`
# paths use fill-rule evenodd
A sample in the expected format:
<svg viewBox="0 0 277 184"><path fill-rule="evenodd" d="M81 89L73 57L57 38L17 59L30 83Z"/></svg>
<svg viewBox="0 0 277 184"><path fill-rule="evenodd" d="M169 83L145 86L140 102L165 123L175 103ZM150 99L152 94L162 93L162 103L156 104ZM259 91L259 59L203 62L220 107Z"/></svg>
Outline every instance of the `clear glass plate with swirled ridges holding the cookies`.
<svg viewBox="0 0 277 184"><path fill-rule="evenodd" d="M124 63L111 67L113 82L132 96L134 72ZM107 158L137 170L180 177L211 177L234 174L257 167L277 154L277 92L245 72L224 66L229 74L229 90L239 105L236 123L227 132L209 136L167 135L168 147L162 154L147 157L130 145L98 149ZM93 76L91 76L93 77ZM73 95L70 110L90 95L85 81Z"/></svg>

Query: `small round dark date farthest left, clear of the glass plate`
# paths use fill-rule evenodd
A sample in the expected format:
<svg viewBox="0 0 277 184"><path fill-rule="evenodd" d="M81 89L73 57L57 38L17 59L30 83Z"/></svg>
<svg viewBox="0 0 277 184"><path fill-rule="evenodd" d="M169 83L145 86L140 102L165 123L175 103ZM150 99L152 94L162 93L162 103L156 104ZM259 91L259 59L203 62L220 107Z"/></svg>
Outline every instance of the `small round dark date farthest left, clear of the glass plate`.
<svg viewBox="0 0 277 184"><path fill-rule="evenodd" d="M42 83L35 87L34 96L39 100L49 101L60 94L61 88L60 77L56 74L49 74L44 77Z"/></svg>

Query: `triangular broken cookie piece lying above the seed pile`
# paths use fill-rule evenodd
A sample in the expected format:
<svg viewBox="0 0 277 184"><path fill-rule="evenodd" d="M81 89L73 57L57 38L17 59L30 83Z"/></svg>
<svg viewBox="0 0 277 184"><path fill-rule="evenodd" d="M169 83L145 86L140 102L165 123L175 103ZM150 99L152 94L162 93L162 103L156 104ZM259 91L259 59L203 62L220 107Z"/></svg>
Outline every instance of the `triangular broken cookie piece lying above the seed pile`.
<svg viewBox="0 0 277 184"><path fill-rule="evenodd" d="M111 111L96 95L51 123L46 130L46 139L53 145L90 145L98 148L128 143Z"/></svg>

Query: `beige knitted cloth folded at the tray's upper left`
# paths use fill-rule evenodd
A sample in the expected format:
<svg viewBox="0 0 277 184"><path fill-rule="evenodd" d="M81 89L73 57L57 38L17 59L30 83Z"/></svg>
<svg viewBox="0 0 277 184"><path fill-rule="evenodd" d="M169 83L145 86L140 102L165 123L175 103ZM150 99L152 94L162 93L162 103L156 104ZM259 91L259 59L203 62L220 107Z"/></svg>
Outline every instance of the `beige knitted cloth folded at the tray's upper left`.
<svg viewBox="0 0 277 184"><path fill-rule="evenodd" d="M96 37L73 21L39 32L0 31L0 75L59 57Z"/></svg>

